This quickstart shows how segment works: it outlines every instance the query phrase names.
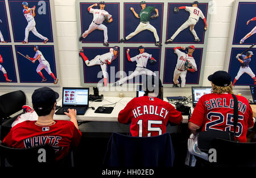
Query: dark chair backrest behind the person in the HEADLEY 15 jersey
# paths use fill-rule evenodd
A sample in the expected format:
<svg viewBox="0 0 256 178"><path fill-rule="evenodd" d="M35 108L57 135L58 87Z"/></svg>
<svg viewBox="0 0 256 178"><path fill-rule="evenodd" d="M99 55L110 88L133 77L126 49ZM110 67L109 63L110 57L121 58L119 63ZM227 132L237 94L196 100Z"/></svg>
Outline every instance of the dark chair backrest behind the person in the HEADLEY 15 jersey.
<svg viewBox="0 0 256 178"><path fill-rule="evenodd" d="M113 133L104 158L107 167L172 167L171 136L135 137Z"/></svg>

